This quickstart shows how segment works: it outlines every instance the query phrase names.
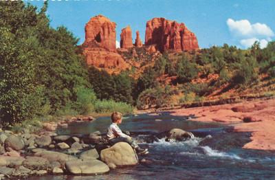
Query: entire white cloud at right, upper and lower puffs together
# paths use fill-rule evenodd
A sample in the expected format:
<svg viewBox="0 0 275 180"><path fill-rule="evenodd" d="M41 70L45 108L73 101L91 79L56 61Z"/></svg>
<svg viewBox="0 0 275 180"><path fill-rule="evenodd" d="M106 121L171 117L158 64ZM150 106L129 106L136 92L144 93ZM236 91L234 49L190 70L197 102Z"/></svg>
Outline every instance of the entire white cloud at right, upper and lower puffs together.
<svg viewBox="0 0 275 180"><path fill-rule="evenodd" d="M260 47L264 48L274 36L272 29L263 23L251 24L247 19L239 21L228 19L226 23L232 36L245 48L251 47L255 41L258 41Z"/></svg>

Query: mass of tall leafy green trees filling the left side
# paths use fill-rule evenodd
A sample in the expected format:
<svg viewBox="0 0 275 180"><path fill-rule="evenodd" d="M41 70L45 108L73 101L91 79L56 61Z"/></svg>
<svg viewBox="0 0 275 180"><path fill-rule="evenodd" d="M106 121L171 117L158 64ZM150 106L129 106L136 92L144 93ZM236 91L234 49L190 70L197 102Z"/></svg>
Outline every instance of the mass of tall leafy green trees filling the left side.
<svg viewBox="0 0 275 180"><path fill-rule="evenodd" d="M91 87L83 58L76 54L78 39L65 27L50 27L46 11L47 1L40 11L23 1L0 1L0 120L4 125L74 108L79 104L78 87Z"/></svg>

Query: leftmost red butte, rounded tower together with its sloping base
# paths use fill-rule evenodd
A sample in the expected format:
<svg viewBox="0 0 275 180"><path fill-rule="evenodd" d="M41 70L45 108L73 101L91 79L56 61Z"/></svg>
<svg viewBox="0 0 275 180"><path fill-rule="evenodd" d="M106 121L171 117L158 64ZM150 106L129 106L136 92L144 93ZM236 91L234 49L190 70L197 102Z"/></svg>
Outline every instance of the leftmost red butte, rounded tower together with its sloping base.
<svg viewBox="0 0 275 180"><path fill-rule="evenodd" d="M115 23L102 15L94 16L85 26L85 42L82 45L87 65L104 68L110 74L131 66L116 53Z"/></svg>

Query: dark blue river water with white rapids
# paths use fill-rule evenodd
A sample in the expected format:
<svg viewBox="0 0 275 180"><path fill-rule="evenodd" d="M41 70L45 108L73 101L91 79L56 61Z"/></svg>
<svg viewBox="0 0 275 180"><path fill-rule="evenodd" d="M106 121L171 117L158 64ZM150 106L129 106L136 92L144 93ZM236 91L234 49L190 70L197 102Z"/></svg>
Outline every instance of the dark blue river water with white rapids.
<svg viewBox="0 0 275 180"><path fill-rule="evenodd" d="M249 141L250 133L233 133L221 124L192 122L188 118L168 113L124 117L120 128L134 133L137 139L171 128L182 128L196 135L186 142L165 142L164 138L153 143L141 142L140 146L150 153L140 157L143 160L137 166L117 168L104 175L47 175L28 179L275 179L274 152L241 148ZM100 117L94 122L70 124L58 129L58 133L105 132L109 124L109 117Z"/></svg>

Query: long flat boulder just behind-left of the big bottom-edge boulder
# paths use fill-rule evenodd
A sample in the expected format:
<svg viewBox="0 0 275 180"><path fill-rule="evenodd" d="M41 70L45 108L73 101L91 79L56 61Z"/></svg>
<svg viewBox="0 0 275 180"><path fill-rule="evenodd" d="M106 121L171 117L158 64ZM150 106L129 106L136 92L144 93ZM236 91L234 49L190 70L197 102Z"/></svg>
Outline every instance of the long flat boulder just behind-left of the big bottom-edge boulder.
<svg viewBox="0 0 275 180"><path fill-rule="evenodd" d="M66 155L64 153L59 153L51 150L45 150L39 153L35 153L36 157L44 157L45 159L52 161L59 161L61 164L65 164L65 161L78 159L77 157Z"/></svg>

